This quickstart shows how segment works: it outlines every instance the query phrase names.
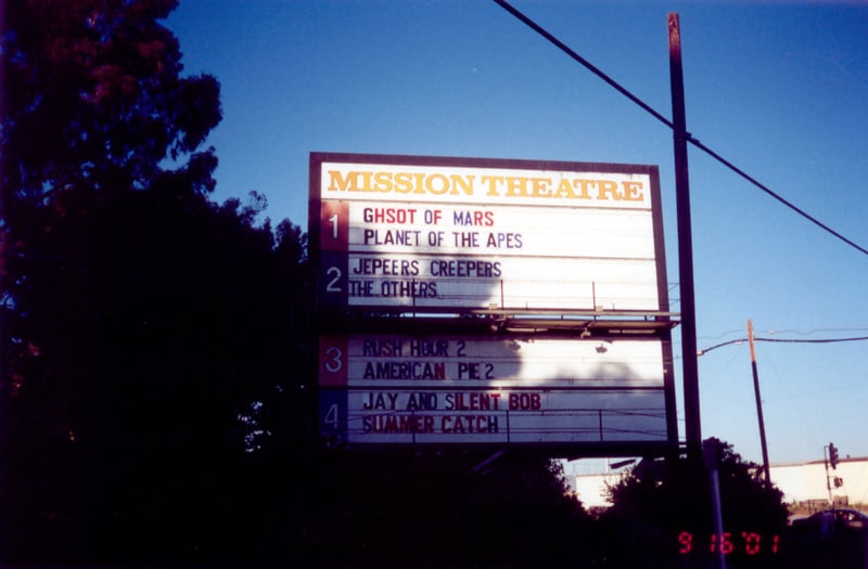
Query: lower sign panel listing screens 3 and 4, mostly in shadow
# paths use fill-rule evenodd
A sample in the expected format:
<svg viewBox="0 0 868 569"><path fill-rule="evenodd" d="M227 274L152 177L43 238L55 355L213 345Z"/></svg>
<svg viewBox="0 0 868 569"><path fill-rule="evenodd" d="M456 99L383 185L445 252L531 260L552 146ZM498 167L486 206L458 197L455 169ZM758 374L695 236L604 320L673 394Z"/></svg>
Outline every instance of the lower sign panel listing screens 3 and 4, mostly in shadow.
<svg viewBox="0 0 868 569"><path fill-rule="evenodd" d="M659 339L320 338L320 419L348 443L668 440Z"/></svg>

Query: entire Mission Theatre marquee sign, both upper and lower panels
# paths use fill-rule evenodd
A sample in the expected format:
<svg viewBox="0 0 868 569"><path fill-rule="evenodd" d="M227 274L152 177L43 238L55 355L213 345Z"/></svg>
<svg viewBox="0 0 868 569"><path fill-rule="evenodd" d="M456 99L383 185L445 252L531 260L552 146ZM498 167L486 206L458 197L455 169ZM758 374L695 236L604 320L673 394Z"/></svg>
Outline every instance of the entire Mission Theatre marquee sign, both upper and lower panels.
<svg viewBox="0 0 868 569"><path fill-rule="evenodd" d="M655 167L314 153L309 238L327 440L677 443Z"/></svg>

